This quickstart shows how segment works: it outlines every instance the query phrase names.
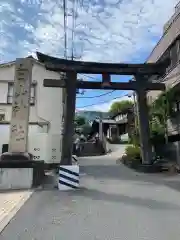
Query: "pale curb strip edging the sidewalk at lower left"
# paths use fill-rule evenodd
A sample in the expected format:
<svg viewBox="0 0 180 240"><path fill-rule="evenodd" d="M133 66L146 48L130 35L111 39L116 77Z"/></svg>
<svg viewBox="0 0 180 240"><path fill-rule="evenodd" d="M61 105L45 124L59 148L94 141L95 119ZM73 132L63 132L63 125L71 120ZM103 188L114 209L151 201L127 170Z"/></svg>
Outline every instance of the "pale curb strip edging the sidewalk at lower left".
<svg viewBox="0 0 180 240"><path fill-rule="evenodd" d="M12 210L1 220L0 222L0 235L5 227L9 224L12 218L16 215L16 213L20 210L20 208L26 203L26 201L31 197L34 193L33 191L29 191L27 196L23 197L19 203L12 208Z"/></svg>

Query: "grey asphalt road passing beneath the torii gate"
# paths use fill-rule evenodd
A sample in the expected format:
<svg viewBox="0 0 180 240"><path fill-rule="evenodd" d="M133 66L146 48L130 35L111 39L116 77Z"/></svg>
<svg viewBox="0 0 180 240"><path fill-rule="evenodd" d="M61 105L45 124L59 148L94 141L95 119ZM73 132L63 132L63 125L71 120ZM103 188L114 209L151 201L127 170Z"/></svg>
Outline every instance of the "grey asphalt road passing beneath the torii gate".
<svg viewBox="0 0 180 240"><path fill-rule="evenodd" d="M117 158L80 160L82 188L46 184L2 232L1 240L179 240L179 176L137 174Z"/></svg>

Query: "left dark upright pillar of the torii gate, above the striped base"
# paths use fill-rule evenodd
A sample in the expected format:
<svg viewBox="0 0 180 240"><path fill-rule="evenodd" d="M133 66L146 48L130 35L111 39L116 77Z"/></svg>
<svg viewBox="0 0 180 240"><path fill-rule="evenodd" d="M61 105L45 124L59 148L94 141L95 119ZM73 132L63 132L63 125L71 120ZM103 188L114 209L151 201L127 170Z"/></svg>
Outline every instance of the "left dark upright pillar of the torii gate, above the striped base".
<svg viewBox="0 0 180 240"><path fill-rule="evenodd" d="M74 116L76 105L76 81L77 73L67 73L66 79L66 111L64 121L64 131L62 139L61 165L72 165L72 148L74 135Z"/></svg>

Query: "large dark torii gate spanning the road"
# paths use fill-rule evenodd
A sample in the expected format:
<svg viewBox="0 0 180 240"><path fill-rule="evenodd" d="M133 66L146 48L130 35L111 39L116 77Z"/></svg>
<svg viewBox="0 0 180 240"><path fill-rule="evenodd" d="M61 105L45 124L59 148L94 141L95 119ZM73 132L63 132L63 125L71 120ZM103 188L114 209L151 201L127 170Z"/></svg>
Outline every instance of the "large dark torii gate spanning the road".
<svg viewBox="0 0 180 240"><path fill-rule="evenodd" d="M37 57L40 62L45 64L47 70L66 73L64 80L44 79L44 87L66 88L67 92L61 165L72 165L76 89L136 91L142 162L143 164L152 162L146 92L148 90L165 90L165 84L152 83L148 79L152 75L163 75L167 62L145 64L83 62L55 58L40 52L37 52ZM102 74L103 81L77 81L78 73ZM134 75L135 81L111 82L110 75Z"/></svg>

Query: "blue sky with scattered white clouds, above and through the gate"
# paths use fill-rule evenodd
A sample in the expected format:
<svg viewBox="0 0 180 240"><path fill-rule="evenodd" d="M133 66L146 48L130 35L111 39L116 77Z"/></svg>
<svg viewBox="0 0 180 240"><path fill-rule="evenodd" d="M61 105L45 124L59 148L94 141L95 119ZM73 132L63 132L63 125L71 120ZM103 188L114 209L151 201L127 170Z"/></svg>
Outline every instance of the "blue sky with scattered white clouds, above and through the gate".
<svg viewBox="0 0 180 240"><path fill-rule="evenodd" d="M163 25L173 14L174 6L178 3L178 0L74 1L75 57L85 61L131 63L144 62L147 59L162 35ZM63 57L62 2L62 0L1 0L0 62L28 55L35 56L37 50ZM67 0L68 56L72 50L72 4L72 0ZM84 75L79 77L88 78ZM91 77L101 79L100 76ZM124 76L112 77L113 81L128 79ZM84 95L78 94L77 109L106 111L118 98L127 99L127 92L122 91L91 98L103 93L105 91L89 90Z"/></svg>

